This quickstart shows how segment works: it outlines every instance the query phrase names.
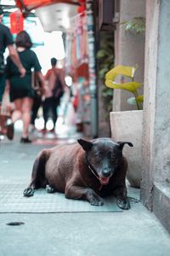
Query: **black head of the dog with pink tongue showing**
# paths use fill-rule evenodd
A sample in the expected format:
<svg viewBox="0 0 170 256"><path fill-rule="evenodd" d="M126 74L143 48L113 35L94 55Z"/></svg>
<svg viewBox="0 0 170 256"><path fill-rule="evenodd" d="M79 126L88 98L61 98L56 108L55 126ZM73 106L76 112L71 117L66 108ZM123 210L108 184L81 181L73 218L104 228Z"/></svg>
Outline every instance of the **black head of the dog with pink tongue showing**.
<svg viewBox="0 0 170 256"><path fill-rule="evenodd" d="M99 178L100 183L109 183L110 177L122 165L122 148L129 142L114 142L111 138L98 138L93 141L78 139L86 152L88 166Z"/></svg>

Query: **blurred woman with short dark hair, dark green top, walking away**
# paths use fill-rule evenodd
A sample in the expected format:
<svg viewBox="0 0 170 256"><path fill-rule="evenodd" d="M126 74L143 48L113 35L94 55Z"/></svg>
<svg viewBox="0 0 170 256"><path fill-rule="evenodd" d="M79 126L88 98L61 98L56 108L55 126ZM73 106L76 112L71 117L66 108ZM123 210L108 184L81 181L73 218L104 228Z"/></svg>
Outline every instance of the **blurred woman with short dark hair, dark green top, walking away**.
<svg viewBox="0 0 170 256"><path fill-rule="evenodd" d="M40 63L36 53L31 50L32 43L26 31L19 32L15 39L16 48L20 56L22 65L26 68L26 76L21 78L14 61L8 56L6 66L6 89L10 92L10 100L14 102L14 112L12 113L12 123L8 125L8 137L14 137L14 122L18 119L23 121L23 131L20 143L31 143L28 137L28 127L31 122L31 108L34 98L34 89L31 86L31 69L37 74L41 81L42 90L45 91L45 81L42 76Z"/></svg>

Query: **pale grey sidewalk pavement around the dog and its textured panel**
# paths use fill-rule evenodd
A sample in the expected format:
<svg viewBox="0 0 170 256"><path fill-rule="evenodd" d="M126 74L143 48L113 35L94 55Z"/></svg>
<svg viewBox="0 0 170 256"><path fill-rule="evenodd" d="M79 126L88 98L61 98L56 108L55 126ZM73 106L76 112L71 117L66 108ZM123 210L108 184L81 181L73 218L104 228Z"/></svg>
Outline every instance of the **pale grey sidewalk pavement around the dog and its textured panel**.
<svg viewBox="0 0 170 256"><path fill-rule="evenodd" d="M78 136L21 144L19 132L12 142L3 139L0 183L28 183L40 149L72 143ZM128 186L128 195L138 198L139 189ZM7 225L10 222L24 224ZM0 237L1 256L168 256L170 252L169 234L140 202L132 202L131 209L123 212L0 213Z"/></svg>

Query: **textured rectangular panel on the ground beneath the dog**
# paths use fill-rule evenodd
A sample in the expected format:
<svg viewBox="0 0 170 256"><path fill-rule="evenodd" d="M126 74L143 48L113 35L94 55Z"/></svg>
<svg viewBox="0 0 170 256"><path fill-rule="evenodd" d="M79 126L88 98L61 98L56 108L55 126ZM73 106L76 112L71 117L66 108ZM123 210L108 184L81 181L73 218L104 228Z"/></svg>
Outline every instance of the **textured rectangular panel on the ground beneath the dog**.
<svg viewBox="0 0 170 256"><path fill-rule="evenodd" d="M104 206L94 207L88 201L66 199L61 193L48 194L45 189L27 198L23 196L25 188L24 183L1 183L0 212L122 212L113 196L105 198Z"/></svg>

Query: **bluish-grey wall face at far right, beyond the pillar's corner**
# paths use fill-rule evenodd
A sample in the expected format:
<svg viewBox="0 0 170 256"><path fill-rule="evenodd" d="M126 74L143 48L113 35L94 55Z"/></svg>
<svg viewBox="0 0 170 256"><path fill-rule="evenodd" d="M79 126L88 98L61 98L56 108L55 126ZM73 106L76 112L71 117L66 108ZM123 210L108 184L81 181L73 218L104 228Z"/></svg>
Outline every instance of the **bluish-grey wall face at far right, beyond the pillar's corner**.
<svg viewBox="0 0 170 256"><path fill-rule="evenodd" d="M170 2L160 2L154 137L155 181L170 180Z"/></svg>

